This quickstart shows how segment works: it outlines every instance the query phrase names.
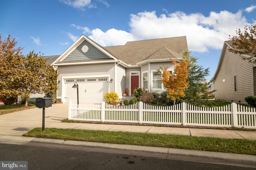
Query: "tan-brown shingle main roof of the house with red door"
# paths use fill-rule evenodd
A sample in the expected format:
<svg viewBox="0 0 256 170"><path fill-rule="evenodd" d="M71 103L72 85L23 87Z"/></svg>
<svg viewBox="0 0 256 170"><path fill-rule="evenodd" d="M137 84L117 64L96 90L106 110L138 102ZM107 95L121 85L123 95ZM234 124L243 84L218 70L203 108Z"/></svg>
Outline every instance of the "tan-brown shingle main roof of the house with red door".
<svg viewBox="0 0 256 170"><path fill-rule="evenodd" d="M180 53L187 48L186 36L129 41L125 45L104 47L117 59L131 65L150 59L181 58Z"/></svg>

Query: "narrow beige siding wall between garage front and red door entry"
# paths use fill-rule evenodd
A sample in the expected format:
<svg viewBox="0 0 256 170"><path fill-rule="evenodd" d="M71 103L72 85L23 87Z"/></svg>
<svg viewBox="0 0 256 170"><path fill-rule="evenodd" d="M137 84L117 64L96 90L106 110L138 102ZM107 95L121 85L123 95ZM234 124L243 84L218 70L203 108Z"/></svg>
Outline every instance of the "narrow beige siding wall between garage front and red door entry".
<svg viewBox="0 0 256 170"><path fill-rule="evenodd" d="M126 74L125 68L117 65L116 66L116 93L118 94L119 98L122 98L122 94L125 93L125 81L126 81Z"/></svg>

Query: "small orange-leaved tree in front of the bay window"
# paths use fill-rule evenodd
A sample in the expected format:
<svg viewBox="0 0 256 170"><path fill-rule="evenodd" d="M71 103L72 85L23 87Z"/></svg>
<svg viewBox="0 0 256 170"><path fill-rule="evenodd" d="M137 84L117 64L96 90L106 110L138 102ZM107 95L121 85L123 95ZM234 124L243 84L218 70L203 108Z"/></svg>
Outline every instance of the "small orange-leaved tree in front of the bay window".
<svg viewBox="0 0 256 170"><path fill-rule="evenodd" d="M170 73L167 67L162 67L158 69L158 72L161 73L162 78L161 82L164 85L164 88L167 91L167 97L171 98L174 102L180 97L183 97L184 90L188 88L188 63L189 61L174 61L170 60L174 64L174 73Z"/></svg>

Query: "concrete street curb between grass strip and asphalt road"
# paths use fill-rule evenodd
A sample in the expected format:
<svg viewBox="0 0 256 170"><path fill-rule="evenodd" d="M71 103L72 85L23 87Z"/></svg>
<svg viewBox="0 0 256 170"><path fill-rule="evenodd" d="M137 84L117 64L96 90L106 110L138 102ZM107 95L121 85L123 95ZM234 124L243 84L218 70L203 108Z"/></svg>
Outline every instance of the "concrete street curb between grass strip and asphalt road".
<svg viewBox="0 0 256 170"><path fill-rule="evenodd" d="M104 148L112 150L128 150L133 153L147 152L148 155L161 155L162 158L177 158L178 156L194 156L204 158L217 158L226 161L246 161L255 162L256 166L256 155L247 154L233 154L223 152L210 152L200 150L186 150L186 149L174 149L174 148L162 148L162 147L148 147L138 145L123 145L123 144L112 144L112 143L97 143L97 142L85 142L85 141L65 141L62 139L45 139L36 137L22 137L22 136L9 136L0 135L0 143L14 144L14 145L29 145L30 143L45 143L45 144L57 144L64 146L74 147L90 147L90 148ZM65 147L68 148L68 147ZM173 155L176 155L174 157Z"/></svg>

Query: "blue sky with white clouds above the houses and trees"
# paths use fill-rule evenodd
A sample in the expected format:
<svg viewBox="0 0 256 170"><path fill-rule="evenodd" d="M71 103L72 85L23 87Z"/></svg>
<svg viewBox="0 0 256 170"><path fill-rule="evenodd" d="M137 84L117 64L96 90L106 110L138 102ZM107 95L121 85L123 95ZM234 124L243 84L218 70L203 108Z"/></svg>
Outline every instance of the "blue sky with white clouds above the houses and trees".
<svg viewBox="0 0 256 170"><path fill-rule="evenodd" d="M61 55L82 34L103 47L186 36L210 80L228 35L255 23L256 0L2 0L0 16L2 40L24 55Z"/></svg>

